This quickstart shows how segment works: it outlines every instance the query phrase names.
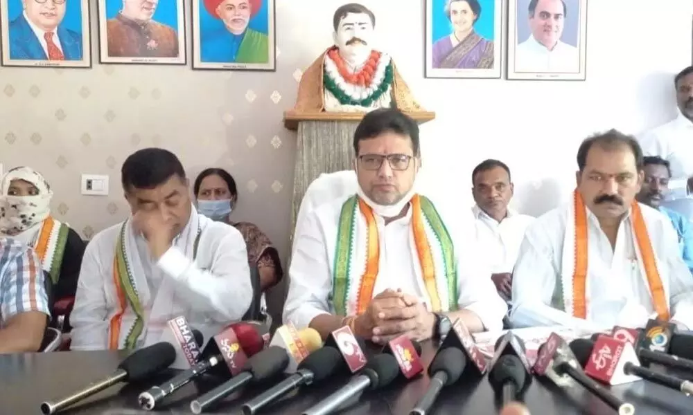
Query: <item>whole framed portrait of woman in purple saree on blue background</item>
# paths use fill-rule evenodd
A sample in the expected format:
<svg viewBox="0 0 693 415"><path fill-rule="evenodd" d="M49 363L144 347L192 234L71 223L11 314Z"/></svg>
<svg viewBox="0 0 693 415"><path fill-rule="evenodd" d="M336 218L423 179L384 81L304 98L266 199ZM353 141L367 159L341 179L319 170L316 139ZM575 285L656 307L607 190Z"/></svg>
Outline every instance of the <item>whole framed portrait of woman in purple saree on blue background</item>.
<svg viewBox="0 0 693 415"><path fill-rule="evenodd" d="M426 0L426 77L500 78L502 0Z"/></svg>

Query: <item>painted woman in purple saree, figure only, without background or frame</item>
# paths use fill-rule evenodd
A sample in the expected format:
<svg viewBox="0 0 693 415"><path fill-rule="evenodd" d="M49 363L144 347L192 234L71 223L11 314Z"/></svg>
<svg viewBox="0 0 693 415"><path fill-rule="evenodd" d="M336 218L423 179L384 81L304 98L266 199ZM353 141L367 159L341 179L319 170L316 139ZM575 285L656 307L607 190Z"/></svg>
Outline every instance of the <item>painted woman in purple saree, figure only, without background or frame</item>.
<svg viewBox="0 0 693 415"><path fill-rule="evenodd" d="M433 44L434 68L493 68L493 42L474 30L481 12L477 0L447 0L445 14L453 25L453 33Z"/></svg>

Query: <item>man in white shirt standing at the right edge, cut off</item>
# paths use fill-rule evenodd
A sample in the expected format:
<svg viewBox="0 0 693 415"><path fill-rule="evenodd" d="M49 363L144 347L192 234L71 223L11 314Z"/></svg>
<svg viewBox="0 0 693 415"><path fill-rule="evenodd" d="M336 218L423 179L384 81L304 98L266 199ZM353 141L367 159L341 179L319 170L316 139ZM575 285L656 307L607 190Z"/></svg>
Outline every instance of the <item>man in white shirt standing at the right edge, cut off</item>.
<svg viewBox="0 0 693 415"><path fill-rule="evenodd" d="M685 194L693 189L693 66L674 77L678 116L651 129L640 137L645 156L659 156L669 161L672 179L669 189Z"/></svg>

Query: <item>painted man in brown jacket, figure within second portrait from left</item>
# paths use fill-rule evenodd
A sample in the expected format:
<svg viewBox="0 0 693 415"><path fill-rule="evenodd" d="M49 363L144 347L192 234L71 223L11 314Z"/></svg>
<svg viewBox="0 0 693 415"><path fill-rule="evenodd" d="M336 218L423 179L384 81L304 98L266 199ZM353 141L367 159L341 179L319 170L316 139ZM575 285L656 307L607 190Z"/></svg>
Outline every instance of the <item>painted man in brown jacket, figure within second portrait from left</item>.
<svg viewBox="0 0 693 415"><path fill-rule="evenodd" d="M159 0L123 0L121 11L106 23L109 57L178 56L175 30L152 20L158 3Z"/></svg>

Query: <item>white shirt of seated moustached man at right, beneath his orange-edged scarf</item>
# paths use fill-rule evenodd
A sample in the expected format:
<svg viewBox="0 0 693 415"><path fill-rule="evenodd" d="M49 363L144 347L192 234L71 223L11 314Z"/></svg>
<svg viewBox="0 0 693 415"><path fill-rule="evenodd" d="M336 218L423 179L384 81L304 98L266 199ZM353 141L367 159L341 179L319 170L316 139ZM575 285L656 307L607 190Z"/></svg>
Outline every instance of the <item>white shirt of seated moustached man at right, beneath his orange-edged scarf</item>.
<svg viewBox="0 0 693 415"><path fill-rule="evenodd" d="M659 275L672 320L693 327L693 277L681 259L671 221L640 205L649 239L658 259ZM529 225L513 274L511 322L516 326L562 325L602 330L615 325L644 326L654 313L647 276L635 260L630 216L622 221L615 248L588 210L588 269L586 320L552 308L561 286L565 208L557 208ZM635 321L637 320L637 321Z"/></svg>

